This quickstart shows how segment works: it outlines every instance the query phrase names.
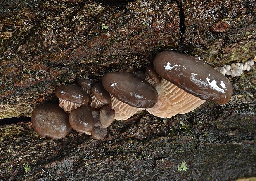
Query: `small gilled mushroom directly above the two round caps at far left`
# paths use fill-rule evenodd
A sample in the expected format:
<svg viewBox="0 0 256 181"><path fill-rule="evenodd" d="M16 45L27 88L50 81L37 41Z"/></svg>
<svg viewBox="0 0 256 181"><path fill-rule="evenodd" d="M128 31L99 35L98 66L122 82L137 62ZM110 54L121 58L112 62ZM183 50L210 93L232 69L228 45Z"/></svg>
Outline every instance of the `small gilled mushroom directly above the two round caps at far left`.
<svg viewBox="0 0 256 181"><path fill-rule="evenodd" d="M59 98L59 107L66 113L70 113L81 105L88 105L90 97L90 95L75 84L59 86L55 90L55 95Z"/></svg>

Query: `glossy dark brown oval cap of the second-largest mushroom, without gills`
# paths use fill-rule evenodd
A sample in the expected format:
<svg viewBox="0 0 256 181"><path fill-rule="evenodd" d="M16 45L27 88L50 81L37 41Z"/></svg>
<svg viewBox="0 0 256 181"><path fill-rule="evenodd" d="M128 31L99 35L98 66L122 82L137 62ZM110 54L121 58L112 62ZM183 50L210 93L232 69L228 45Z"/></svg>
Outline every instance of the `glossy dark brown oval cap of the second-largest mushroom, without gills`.
<svg viewBox="0 0 256 181"><path fill-rule="evenodd" d="M108 72L102 77L102 85L111 95L132 107L153 107L158 99L151 84L130 73Z"/></svg>

